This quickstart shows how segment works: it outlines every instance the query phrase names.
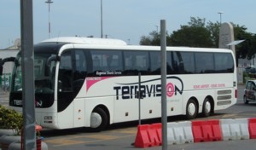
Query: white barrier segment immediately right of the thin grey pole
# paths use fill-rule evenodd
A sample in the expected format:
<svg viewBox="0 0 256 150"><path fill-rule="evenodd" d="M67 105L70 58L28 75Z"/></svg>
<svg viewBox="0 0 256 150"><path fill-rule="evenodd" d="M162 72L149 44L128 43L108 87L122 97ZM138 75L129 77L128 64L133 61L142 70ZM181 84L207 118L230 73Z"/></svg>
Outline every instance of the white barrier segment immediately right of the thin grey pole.
<svg viewBox="0 0 256 150"><path fill-rule="evenodd" d="M178 123L168 123L167 124L167 141L169 145L194 142L191 122L183 121Z"/></svg>

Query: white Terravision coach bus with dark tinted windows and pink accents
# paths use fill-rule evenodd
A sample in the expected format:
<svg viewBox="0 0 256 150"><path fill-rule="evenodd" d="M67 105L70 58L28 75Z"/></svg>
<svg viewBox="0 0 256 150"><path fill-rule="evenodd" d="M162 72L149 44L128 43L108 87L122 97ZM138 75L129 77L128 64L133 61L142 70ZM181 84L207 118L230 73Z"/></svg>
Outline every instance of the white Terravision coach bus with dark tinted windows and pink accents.
<svg viewBox="0 0 256 150"><path fill-rule="evenodd" d="M20 53L10 60L15 67L9 107L21 113ZM108 124L138 120L139 109L141 119L160 118L160 64L159 46L79 37L37 43L36 122L51 129L103 130ZM230 49L167 47L166 72L167 116L193 119L236 104L236 61Z"/></svg>

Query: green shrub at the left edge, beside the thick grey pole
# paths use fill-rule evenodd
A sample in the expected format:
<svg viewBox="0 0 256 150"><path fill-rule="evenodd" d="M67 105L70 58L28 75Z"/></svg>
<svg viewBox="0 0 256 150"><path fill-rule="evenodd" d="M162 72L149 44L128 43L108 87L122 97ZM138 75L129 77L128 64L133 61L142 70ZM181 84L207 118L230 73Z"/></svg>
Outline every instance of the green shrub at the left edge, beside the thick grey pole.
<svg viewBox="0 0 256 150"><path fill-rule="evenodd" d="M15 130L15 134L20 135L22 125L23 118L20 113L0 105L0 129Z"/></svg>

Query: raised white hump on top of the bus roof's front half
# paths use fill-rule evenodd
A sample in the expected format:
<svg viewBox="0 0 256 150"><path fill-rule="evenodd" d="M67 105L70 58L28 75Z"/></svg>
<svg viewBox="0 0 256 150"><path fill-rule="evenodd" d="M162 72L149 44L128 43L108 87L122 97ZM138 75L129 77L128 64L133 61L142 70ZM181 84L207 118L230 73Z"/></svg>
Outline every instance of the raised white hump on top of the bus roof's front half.
<svg viewBox="0 0 256 150"><path fill-rule="evenodd" d="M40 43L83 43L96 45L127 45L125 41L111 38L82 38L82 37L59 37L49 38Z"/></svg>

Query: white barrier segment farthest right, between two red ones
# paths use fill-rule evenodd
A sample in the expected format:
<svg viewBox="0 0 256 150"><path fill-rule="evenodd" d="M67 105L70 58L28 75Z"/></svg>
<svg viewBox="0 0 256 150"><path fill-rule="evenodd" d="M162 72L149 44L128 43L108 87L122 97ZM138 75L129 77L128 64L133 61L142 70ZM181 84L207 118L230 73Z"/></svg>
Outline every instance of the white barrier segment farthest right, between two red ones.
<svg viewBox="0 0 256 150"><path fill-rule="evenodd" d="M247 118L220 119L223 140L245 140L249 139Z"/></svg>

